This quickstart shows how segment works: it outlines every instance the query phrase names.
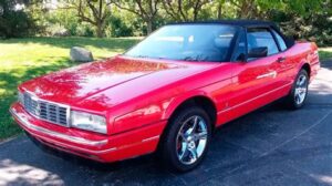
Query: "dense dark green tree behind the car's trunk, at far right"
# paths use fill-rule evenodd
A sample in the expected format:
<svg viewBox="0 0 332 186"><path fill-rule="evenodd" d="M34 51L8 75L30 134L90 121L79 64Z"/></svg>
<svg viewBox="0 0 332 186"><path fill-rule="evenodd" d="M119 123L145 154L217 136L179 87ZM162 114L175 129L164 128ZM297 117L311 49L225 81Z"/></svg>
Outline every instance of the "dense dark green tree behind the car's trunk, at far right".
<svg viewBox="0 0 332 186"><path fill-rule="evenodd" d="M281 13L278 11L279 17L270 19L280 22L286 34L294 39L314 41L319 45L332 44L331 0L288 0L284 10Z"/></svg>

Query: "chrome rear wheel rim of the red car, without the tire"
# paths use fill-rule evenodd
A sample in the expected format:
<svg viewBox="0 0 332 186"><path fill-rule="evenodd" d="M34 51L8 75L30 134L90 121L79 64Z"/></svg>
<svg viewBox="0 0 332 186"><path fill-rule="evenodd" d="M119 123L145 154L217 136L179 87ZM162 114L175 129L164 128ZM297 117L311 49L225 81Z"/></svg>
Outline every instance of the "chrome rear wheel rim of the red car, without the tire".
<svg viewBox="0 0 332 186"><path fill-rule="evenodd" d="M298 105L302 104L308 93L308 79L304 74L301 74L295 84L294 101Z"/></svg>

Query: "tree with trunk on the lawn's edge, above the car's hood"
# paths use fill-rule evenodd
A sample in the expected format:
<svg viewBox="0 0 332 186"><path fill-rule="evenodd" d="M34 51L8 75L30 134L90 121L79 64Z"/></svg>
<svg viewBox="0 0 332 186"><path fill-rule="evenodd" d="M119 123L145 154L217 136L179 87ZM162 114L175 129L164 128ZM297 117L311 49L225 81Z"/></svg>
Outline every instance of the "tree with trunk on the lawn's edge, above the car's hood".
<svg viewBox="0 0 332 186"><path fill-rule="evenodd" d="M108 0L66 0L63 9L75 9L80 21L94 25L96 35L103 37L105 19L111 16Z"/></svg>

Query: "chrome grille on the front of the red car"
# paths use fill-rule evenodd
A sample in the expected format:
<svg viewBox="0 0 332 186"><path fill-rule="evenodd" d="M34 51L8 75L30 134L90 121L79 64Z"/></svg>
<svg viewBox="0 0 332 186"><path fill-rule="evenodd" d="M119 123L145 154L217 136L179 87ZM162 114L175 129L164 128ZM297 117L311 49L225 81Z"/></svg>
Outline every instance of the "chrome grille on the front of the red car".
<svg viewBox="0 0 332 186"><path fill-rule="evenodd" d="M23 106L27 112L40 120L62 126L69 125L68 116L70 110L66 105L40 100L29 93L24 93Z"/></svg>

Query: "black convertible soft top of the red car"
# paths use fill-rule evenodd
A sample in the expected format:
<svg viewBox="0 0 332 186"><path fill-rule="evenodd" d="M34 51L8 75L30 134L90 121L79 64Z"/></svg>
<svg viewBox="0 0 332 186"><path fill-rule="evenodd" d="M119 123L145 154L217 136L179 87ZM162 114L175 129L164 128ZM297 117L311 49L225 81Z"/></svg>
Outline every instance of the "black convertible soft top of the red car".
<svg viewBox="0 0 332 186"><path fill-rule="evenodd" d="M287 38L274 22L261 20L211 20L211 21L195 21L195 22L175 22L170 24L229 24L243 28L271 28L276 30L284 40L287 48L294 45L294 40Z"/></svg>

